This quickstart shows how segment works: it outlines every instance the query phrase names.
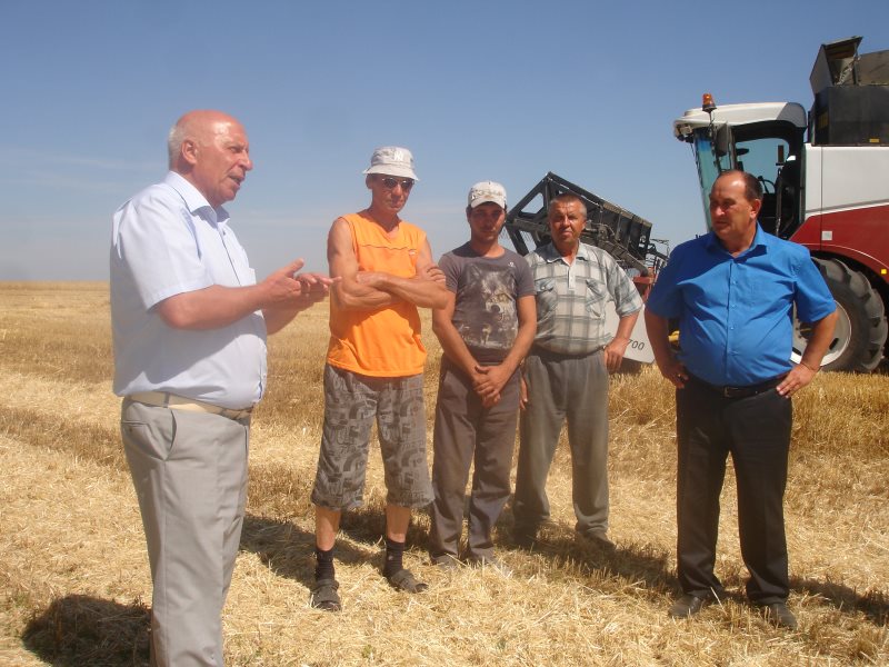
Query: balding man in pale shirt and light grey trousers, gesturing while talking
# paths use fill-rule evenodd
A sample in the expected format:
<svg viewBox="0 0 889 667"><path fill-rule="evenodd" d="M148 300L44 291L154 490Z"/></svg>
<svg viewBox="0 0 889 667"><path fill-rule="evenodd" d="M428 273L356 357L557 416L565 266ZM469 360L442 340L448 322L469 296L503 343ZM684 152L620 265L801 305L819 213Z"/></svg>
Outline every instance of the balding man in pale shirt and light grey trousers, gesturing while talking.
<svg viewBox="0 0 889 667"><path fill-rule="evenodd" d="M331 280L296 260L257 283L222 208L253 168L241 123L191 111L168 148L163 181L114 213L113 388L151 566L151 664L218 666L266 335Z"/></svg>

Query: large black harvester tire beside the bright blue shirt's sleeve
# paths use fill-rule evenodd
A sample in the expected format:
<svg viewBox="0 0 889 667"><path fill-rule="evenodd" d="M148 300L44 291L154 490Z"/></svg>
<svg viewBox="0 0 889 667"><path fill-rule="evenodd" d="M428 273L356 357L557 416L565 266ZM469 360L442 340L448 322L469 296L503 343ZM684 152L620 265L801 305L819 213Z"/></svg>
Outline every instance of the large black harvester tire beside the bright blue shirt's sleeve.
<svg viewBox="0 0 889 667"><path fill-rule="evenodd" d="M870 372L882 359L887 323L882 299L863 273L837 259L813 259L837 301L837 336L823 370Z"/></svg>

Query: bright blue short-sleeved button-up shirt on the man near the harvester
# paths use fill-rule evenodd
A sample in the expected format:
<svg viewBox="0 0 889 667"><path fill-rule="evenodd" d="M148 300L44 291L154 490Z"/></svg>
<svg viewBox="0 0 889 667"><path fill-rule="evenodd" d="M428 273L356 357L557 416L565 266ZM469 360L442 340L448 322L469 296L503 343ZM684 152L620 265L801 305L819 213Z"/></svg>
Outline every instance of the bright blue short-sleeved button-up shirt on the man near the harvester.
<svg viewBox="0 0 889 667"><path fill-rule="evenodd" d="M756 385L790 370L795 306L803 322L836 309L809 251L759 225L738 257L712 232L678 246L646 303L679 319L679 359L720 386Z"/></svg>

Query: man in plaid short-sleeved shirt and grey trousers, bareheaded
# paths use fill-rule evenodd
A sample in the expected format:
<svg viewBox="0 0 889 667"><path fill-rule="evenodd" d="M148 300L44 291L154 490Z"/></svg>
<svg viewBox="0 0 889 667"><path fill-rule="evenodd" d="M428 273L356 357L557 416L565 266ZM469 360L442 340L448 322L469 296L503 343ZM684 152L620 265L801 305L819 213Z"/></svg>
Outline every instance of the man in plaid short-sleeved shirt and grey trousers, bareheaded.
<svg viewBox="0 0 889 667"><path fill-rule="evenodd" d="M567 421L575 529L611 550L608 372L620 367L642 300L608 252L580 242L587 208L579 197L567 192L553 198L548 219L552 241L526 258L535 279L537 335L525 362L515 538L532 546L549 520L547 475ZM605 328L609 300L620 318L613 338Z"/></svg>

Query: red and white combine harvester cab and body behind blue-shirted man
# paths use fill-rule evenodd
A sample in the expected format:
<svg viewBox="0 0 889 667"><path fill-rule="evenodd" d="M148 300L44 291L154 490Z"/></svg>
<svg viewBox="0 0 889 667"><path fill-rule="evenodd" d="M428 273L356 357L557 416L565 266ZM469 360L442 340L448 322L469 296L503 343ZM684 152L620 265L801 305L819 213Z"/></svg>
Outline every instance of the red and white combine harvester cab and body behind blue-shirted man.
<svg viewBox="0 0 889 667"><path fill-rule="evenodd" d="M889 50L859 56L860 37L822 44L815 102L725 104L709 94L673 121L698 163L707 226L721 171L763 186L762 228L806 246L837 300L822 366L869 372L883 358L889 305ZM796 327L795 361L808 331Z"/></svg>

